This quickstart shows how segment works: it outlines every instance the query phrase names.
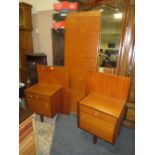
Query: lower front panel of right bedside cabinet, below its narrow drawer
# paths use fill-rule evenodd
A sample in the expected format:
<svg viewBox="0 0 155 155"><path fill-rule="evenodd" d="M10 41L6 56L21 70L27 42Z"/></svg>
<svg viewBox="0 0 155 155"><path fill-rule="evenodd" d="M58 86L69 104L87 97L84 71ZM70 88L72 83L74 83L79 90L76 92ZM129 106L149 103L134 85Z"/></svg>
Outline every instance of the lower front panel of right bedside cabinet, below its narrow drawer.
<svg viewBox="0 0 155 155"><path fill-rule="evenodd" d="M115 124L110 124L103 119L80 112L79 126L98 137L113 142Z"/></svg>

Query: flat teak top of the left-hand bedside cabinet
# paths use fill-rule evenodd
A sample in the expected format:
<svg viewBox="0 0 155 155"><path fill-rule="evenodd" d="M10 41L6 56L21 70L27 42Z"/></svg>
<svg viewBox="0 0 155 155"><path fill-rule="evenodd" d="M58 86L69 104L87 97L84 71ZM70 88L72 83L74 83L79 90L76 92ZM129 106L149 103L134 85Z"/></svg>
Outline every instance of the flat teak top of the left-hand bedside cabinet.
<svg viewBox="0 0 155 155"><path fill-rule="evenodd" d="M61 85L53 85L53 84L49 85L49 84L37 83L32 87L27 88L25 92L38 93L41 95L51 96L61 88L62 88Z"/></svg>

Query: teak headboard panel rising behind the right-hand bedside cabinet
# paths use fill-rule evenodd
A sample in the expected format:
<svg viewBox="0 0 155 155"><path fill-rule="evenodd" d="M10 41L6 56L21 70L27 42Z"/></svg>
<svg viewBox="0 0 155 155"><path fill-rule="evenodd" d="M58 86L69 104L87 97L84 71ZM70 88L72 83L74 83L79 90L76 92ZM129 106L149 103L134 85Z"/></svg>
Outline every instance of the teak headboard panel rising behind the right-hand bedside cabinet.
<svg viewBox="0 0 155 155"><path fill-rule="evenodd" d="M86 95L91 92L126 101L130 87L130 77L114 74L87 72Z"/></svg>

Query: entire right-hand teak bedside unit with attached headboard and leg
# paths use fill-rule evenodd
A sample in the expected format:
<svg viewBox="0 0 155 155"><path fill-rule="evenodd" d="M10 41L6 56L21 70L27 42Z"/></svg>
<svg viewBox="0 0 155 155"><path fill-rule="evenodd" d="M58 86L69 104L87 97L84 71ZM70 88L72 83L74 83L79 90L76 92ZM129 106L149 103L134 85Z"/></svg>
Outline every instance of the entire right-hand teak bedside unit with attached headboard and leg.
<svg viewBox="0 0 155 155"><path fill-rule="evenodd" d="M86 97L79 102L78 126L114 144L125 113L130 78L88 72Z"/></svg>

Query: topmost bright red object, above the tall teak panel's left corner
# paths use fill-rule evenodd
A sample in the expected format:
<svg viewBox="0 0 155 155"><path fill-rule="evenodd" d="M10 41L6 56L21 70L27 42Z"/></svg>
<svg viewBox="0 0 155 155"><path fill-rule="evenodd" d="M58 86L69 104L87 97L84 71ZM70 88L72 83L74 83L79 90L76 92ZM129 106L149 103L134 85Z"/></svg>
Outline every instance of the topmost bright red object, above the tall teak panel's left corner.
<svg viewBox="0 0 155 155"><path fill-rule="evenodd" d="M63 9L68 9L68 10L77 10L78 8L78 3L77 2L67 2L63 1L61 3L54 3L53 8L55 11L60 11Z"/></svg>

